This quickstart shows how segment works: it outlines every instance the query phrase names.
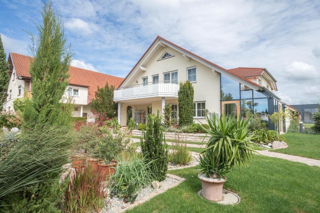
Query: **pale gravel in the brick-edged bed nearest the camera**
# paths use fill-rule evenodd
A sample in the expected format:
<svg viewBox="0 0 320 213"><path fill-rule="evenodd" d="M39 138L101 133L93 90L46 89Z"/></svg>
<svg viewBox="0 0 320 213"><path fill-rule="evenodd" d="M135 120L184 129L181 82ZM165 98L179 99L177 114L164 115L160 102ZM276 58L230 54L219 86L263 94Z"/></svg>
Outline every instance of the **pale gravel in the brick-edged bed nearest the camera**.
<svg viewBox="0 0 320 213"><path fill-rule="evenodd" d="M177 181L178 180L176 180L176 179L166 177L166 179L164 179L163 181L160 182L160 189L164 188L165 186L172 185L173 183L175 183ZM140 197L144 197L144 196L152 193L153 191L156 191L156 189L153 189L152 186L149 185L139 191L137 199L139 199ZM108 212L111 212L111 211L125 205L125 203L122 200L123 200L122 198L118 198L116 196L108 197L109 203L107 205L107 209L102 209L101 213L108 213Z"/></svg>

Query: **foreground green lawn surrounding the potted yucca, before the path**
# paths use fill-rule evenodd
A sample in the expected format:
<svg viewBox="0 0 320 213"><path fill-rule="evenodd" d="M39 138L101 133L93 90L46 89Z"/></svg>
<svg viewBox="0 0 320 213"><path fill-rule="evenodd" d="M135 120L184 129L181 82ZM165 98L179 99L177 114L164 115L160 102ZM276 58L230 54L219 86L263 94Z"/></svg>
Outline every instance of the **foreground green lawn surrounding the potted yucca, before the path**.
<svg viewBox="0 0 320 213"><path fill-rule="evenodd" d="M227 174L224 188L241 197L241 202L232 206L199 197L201 183L196 167L169 173L186 180L127 212L319 212L320 209L320 168L316 166L254 155L250 168L242 167L241 172L234 170Z"/></svg>

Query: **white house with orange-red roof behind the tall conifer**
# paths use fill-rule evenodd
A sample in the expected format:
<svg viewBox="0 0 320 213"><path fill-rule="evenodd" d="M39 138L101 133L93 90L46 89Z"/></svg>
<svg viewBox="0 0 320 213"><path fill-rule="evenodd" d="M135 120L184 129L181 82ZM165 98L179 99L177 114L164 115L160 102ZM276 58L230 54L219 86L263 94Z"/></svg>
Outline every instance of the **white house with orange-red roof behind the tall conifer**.
<svg viewBox="0 0 320 213"><path fill-rule="evenodd" d="M13 101L16 98L31 97L32 79L29 73L30 60L32 57L10 52L8 63L10 65L10 81L8 85L7 101L3 105L3 110L14 111ZM74 99L75 117L93 118L90 103L95 97L98 86L104 87L108 82L117 88L123 78L112 75L94 72L70 66L68 73L69 86L66 88L65 97L72 96Z"/></svg>

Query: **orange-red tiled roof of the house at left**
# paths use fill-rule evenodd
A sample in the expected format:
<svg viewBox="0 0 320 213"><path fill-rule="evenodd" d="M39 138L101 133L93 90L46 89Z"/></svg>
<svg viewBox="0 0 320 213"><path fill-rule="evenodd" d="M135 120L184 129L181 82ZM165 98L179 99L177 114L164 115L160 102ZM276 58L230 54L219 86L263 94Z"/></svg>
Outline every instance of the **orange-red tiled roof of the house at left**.
<svg viewBox="0 0 320 213"><path fill-rule="evenodd" d="M31 78L29 68L32 57L14 52L10 52L10 56L12 58L16 75L19 77ZM85 70L74 66L69 67L68 73L70 74L68 79L70 84L89 87L88 96L90 99L94 98L95 91L97 91L98 86L104 87L108 82L109 85L113 85L115 88L118 88L124 80L124 78Z"/></svg>

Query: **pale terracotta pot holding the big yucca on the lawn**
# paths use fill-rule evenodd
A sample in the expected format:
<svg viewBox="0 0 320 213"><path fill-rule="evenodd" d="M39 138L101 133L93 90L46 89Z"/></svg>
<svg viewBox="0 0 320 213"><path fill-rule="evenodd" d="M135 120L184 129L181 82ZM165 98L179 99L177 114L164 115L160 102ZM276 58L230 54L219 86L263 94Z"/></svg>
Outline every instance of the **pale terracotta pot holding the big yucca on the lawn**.
<svg viewBox="0 0 320 213"><path fill-rule="evenodd" d="M220 201L222 199L223 183L227 180L207 180L200 177L200 175L198 174L198 178L201 180L202 196L209 201Z"/></svg>

